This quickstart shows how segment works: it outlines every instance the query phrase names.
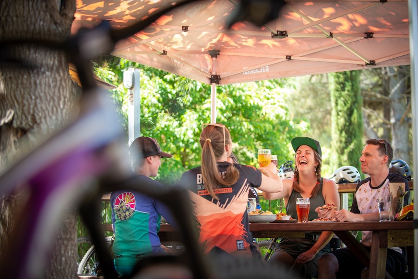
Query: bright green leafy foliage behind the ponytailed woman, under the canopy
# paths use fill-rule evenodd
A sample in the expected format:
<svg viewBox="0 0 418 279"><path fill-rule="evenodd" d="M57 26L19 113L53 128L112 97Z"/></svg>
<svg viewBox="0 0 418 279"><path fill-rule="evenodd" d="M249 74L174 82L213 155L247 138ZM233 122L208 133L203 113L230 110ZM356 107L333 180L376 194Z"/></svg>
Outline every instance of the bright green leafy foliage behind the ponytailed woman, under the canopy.
<svg viewBox="0 0 418 279"><path fill-rule="evenodd" d="M136 65L141 69L141 134L173 154L163 159L157 180L173 183L200 165L199 136L210 122L210 85ZM281 83L249 82L217 87L217 122L231 132L242 164L257 166L257 149L270 148L279 162L293 157L289 143L304 130L289 118Z"/></svg>

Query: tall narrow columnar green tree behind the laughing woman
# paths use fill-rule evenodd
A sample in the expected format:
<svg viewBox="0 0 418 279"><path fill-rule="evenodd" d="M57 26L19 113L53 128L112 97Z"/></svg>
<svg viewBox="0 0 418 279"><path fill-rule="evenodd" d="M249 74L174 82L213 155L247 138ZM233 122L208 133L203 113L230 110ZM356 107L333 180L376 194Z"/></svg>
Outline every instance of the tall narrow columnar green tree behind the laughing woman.
<svg viewBox="0 0 418 279"><path fill-rule="evenodd" d="M331 165L360 168L358 159L363 149L362 98L359 71L328 74L332 103Z"/></svg>

